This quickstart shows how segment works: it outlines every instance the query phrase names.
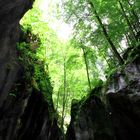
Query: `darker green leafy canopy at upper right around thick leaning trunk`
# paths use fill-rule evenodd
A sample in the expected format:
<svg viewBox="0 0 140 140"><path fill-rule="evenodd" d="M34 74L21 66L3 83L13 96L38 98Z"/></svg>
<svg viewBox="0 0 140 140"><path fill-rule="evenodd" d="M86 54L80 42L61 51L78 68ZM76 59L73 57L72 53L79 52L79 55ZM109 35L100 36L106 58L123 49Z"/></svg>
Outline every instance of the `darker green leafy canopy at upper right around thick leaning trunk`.
<svg viewBox="0 0 140 140"><path fill-rule="evenodd" d="M88 44L88 47L97 47L97 51L99 52L97 57L101 57L105 60L109 64L109 67L111 67L110 69L115 67L112 63L112 59L116 64L118 61L109 51L109 43L103 34L102 27L98 23L96 14L93 11L93 7L90 5L90 2L94 4L96 12L98 13L99 18L102 19L102 24L104 28L106 28L108 36L114 43L118 52L124 53L124 44L120 46L120 42L125 40L126 34L129 34L131 36L130 40L132 44L136 44L137 42L135 41L132 32L140 27L138 23L136 25L137 29L133 27L131 30L130 25L127 22L127 20L129 20L133 26L138 21L134 14L132 14L135 12L135 14L138 15L138 11L136 12L138 2L135 0L131 1L130 7L128 1L121 1L125 13L122 11L118 0L67 0L64 2L65 19L70 24L74 24L74 38L76 38L79 43L82 42L84 46L87 46ZM135 7L135 9L132 7ZM132 9L133 11L131 11ZM124 14L128 15L128 17L125 17ZM130 40L127 40L126 42L128 43ZM93 53L94 55L97 54L96 52Z"/></svg>

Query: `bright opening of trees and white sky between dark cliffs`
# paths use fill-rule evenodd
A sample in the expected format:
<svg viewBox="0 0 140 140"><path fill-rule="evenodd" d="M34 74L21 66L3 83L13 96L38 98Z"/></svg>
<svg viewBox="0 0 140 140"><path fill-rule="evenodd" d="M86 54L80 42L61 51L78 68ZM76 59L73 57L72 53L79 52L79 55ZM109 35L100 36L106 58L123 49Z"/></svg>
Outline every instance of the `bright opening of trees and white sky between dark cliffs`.
<svg viewBox="0 0 140 140"><path fill-rule="evenodd" d="M128 45L138 43L134 29L129 32L128 17L122 18L129 11L122 14L118 1L112 2L36 0L22 19L23 27L41 40L36 54L49 69L62 129L69 122L72 100L104 84L106 77L124 64Z"/></svg>

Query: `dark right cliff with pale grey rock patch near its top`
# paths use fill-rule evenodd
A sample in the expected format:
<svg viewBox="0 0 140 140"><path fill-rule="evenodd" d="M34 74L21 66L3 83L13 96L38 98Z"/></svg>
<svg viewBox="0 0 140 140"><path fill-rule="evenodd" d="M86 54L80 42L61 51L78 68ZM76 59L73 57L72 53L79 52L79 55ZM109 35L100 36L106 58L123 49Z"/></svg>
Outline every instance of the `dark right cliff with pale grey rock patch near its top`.
<svg viewBox="0 0 140 140"><path fill-rule="evenodd" d="M112 74L106 86L96 87L87 98L73 102L67 140L139 139L139 53L136 56Z"/></svg>

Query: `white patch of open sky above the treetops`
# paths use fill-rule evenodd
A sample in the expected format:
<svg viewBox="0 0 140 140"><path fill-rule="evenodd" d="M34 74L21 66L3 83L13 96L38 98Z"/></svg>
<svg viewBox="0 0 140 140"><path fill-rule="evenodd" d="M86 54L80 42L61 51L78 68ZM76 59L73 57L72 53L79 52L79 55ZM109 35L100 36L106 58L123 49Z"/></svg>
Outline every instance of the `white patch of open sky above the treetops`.
<svg viewBox="0 0 140 140"><path fill-rule="evenodd" d="M67 41L72 33L72 26L66 24L62 19L57 19L56 3L61 3L62 0L42 0L39 3L39 8L43 11L43 20L49 23L49 26L56 31L58 37Z"/></svg>

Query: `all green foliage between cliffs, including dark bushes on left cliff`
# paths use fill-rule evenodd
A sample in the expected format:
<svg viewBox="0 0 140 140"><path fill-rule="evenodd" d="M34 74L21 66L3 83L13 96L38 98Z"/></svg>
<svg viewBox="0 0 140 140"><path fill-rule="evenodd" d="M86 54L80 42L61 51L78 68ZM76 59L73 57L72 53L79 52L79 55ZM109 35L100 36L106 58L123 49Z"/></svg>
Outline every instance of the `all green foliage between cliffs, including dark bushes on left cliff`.
<svg viewBox="0 0 140 140"><path fill-rule="evenodd" d="M60 124L62 118L66 121L65 125L68 123L72 99L87 96L90 87L102 87L102 80L105 81L119 67L107 38L121 57L128 45L139 44L135 39L140 27L137 19L139 2L120 2L124 11L118 0L65 0L60 4L53 0L47 9L47 19L44 19L39 9L40 1L36 0L33 9L21 20L25 34L17 47L26 71L25 79L27 83L32 83L31 87L42 91L47 100L51 100L53 93ZM105 36L97 15L108 36ZM54 22L61 20L73 27L69 40L60 38L53 28ZM127 20L133 26L132 30ZM120 45L122 41L125 43ZM133 53L126 59L133 59Z"/></svg>

